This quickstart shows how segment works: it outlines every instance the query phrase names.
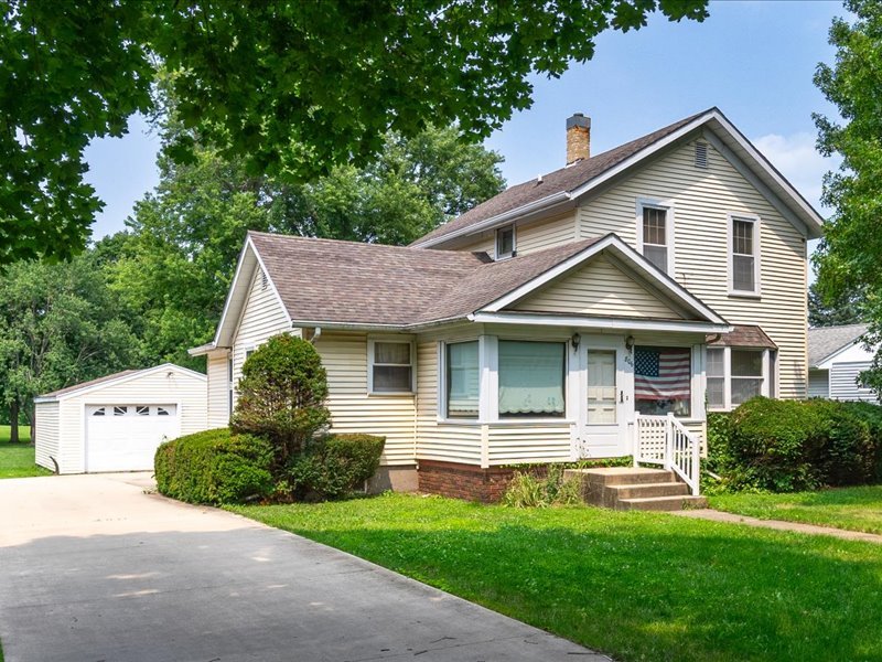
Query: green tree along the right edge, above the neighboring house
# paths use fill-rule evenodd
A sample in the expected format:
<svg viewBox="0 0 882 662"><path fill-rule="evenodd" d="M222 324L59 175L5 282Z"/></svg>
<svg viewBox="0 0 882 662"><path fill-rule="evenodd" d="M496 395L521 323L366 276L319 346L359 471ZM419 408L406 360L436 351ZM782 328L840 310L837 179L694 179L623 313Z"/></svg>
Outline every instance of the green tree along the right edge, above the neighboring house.
<svg viewBox="0 0 882 662"><path fill-rule="evenodd" d="M818 147L842 164L824 181L824 202L835 210L825 224L816 264L826 305L859 300L870 322L867 339L882 341L882 3L848 0L852 23L836 19L832 65L818 65L815 83L840 118L815 116ZM882 392L882 356L865 382Z"/></svg>

